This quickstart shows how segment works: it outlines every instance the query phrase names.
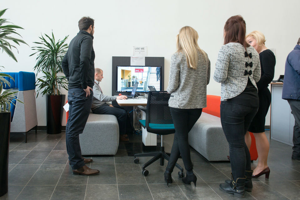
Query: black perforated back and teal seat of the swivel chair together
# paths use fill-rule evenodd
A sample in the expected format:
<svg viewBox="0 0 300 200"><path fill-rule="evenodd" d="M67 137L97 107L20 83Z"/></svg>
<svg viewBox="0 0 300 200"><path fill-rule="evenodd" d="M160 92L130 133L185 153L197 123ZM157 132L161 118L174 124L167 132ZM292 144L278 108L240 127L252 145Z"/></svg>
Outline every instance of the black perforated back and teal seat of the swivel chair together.
<svg viewBox="0 0 300 200"><path fill-rule="evenodd" d="M160 135L175 133L169 98L170 94L166 91L150 91L148 93L145 122L148 132Z"/></svg>

